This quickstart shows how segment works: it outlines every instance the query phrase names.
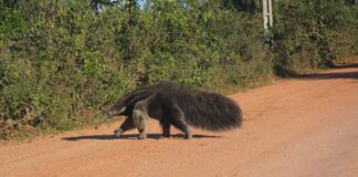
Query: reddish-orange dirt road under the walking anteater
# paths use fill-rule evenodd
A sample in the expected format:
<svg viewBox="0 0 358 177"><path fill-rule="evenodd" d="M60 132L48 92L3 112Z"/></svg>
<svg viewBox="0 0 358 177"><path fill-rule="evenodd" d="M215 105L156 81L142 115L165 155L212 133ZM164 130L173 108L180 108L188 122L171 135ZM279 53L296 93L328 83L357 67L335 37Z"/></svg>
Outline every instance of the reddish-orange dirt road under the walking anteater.
<svg viewBox="0 0 358 177"><path fill-rule="evenodd" d="M358 64L231 97L240 129L158 139L152 121L145 140L115 139L116 125L40 137L1 146L0 177L358 176Z"/></svg>

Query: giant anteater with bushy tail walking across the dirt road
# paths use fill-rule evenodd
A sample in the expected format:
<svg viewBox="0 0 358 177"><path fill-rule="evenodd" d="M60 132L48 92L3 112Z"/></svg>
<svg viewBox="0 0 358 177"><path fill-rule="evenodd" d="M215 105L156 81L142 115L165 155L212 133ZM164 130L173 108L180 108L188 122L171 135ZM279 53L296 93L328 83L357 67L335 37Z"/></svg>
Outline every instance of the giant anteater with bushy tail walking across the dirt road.
<svg viewBox="0 0 358 177"><path fill-rule="evenodd" d="M115 129L116 137L137 127L139 138L146 138L149 117L159 121L162 137L170 136L170 125L183 132L186 138L192 138L188 125L207 131L225 131L239 127L242 122L241 108L229 97L172 82L158 83L124 95L102 115L96 127L102 121L116 115L127 116Z"/></svg>

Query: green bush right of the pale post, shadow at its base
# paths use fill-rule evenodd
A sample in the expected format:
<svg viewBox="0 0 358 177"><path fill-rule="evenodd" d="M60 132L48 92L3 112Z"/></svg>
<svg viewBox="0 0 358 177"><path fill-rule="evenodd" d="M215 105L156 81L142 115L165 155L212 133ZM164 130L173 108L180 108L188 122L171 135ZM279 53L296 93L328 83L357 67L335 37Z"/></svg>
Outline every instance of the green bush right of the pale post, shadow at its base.
<svg viewBox="0 0 358 177"><path fill-rule="evenodd" d="M346 1L278 1L271 33L278 75L329 66L357 54L357 6Z"/></svg>

